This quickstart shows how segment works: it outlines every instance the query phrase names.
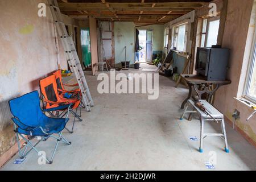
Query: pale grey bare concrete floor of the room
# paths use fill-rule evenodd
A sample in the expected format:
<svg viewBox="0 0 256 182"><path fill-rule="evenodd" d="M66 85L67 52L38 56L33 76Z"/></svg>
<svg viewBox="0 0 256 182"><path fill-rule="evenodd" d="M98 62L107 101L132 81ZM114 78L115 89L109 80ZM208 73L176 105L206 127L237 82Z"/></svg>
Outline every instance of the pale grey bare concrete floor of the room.
<svg viewBox="0 0 256 182"><path fill-rule="evenodd" d="M171 78L159 77L160 96L154 101L147 94L98 94L99 81L89 74L95 106L90 113L82 111L84 121L76 122L75 133L64 131L72 145L60 143L53 164L39 165L32 151L23 164L13 164L15 155L2 170L208 170L204 162L212 151L216 170L256 170L255 148L228 124L229 154L218 137L205 138L204 153L198 152L199 141L189 136L200 137L200 122L196 115L191 122L179 120L188 90L175 88ZM220 131L220 123L207 123L205 130ZM54 145L50 139L38 148L51 154Z"/></svg>

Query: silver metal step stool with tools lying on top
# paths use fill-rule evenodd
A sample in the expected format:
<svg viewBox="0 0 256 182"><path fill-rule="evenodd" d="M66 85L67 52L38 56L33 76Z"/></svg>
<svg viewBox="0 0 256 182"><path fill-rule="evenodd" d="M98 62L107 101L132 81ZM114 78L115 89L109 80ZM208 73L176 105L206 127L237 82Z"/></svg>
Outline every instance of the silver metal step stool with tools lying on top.
<svg viewBox="0 0 256 182"><path fill-rule="evenodd" d="M209 104L206 100L200 100L201 104L208 110L210 115L217 121L221 122L222 133L204 133L204 122L205 121L214 121L207 113L204 113L199 107L196 106L195 102L192 100L188 100L187 106L185 107L184 113L181 115L180 120L183 120L185 113L199 113L200 114L200 123L201 123L201 131L200 131L200 148L199 152L203 153L203 139L207 136L221 137L225 141L225 151L229 153L228 147L228 139L226 138L226 129L225 129L225 121L224 115L220 113L215 107ZM192 106L195 110L188 110L188 106Z"/></svg>

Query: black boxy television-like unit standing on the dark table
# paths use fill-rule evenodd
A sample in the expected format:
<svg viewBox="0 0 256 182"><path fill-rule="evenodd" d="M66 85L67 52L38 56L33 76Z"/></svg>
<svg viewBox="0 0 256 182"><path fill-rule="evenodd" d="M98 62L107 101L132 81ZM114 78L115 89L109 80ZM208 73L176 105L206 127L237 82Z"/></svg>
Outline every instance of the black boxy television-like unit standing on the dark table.
<svg viewBox="0 0 256 182"><path fill-rule="evenodd" d="M230 50L228 48L199 47L196 53L196 71L208 81L226 80Z"/></svg>

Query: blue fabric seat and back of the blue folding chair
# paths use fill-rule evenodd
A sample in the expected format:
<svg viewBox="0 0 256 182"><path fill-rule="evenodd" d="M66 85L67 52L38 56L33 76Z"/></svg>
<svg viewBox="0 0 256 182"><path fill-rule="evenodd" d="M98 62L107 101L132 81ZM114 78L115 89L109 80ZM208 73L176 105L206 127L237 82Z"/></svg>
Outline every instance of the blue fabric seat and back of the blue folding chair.
<svg viewBox="0 0 256 182"><path fill-rule="evenodd" d="M18 126L17 132L30 136L46 136L60 133L69 119L49 118L40 109L37 91L9 101L13 122ZM42 129L46 132L43 133Z"/></svg>

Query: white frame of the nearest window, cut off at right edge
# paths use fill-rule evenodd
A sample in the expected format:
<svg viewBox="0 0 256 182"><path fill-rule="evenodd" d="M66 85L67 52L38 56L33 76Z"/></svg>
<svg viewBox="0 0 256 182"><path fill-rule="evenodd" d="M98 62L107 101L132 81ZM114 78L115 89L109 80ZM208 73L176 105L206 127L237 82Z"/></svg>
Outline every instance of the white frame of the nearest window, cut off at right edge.
<svg viewBox="0 0 256 182"><path fill-rule="evenodd" d="M246 80L245 80L245 87L243 90L243 97L256 104L256 98L249 96L249 90L250 90L250 83L253 76L254 71L254 65L256 64L256 28L254 30L253 35L253 43L251 44L251 51L250 51L250 58L249 58L249 64L247 67L247 73L246 73Z"/></svg>

